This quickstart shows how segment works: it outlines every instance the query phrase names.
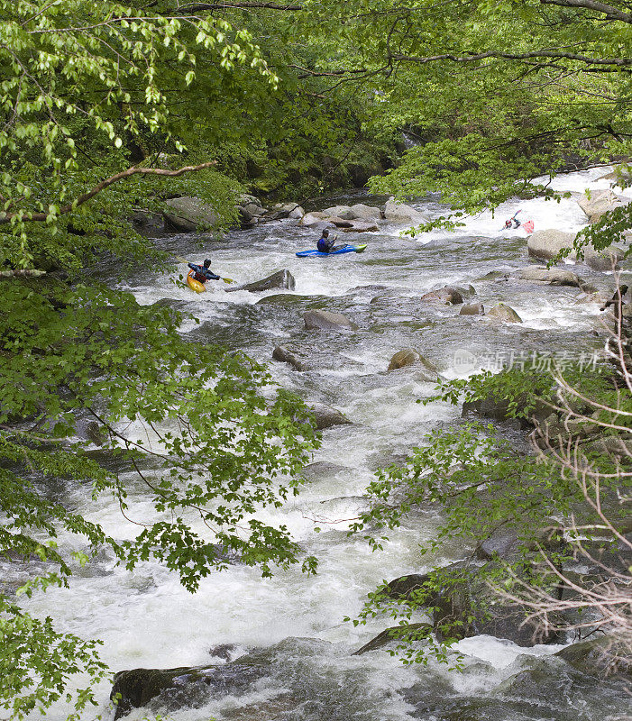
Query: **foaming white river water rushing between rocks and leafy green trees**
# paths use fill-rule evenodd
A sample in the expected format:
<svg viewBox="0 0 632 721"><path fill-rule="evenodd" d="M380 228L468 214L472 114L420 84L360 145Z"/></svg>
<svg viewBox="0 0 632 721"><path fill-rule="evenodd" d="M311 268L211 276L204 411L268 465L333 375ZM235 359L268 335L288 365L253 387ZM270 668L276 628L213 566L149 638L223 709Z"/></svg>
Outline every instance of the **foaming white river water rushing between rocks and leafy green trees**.
<svg viewBox="0 0 632 721"><path fill-rule="evenodd" d="M606 170L574 174L557 182L582 191L600 187L595 178ZM602 187L607 187L601 181ZM347 202L378 204L376 198L345 196ZM441 214L436 199L416 204ZM350 654L390 625L375 619L354 627L344 616L362 608L367 593L382 580L422 573L431 564L463 559L472 552L463 541L446 543L433 558L421 557L418 543L433 537L435 512L419 512L390 534L382 552L371 552L346 529L365 507L365 488L376 469L403 460L430 430L454 424L458 408L417 404L434 384L415 370L387 372L393 353L413 347L432 360L445 377L463 372L454 360L469 351L474 368L530 359L534 351L577 357L599 348L599 307L585 302L577 288L550 287L508 278L527 266L524 233L499 232L504 218L522 208L522 218L536 229L576 231L585 216L574 200L557 205L543 200L506 205L494 219L481 214L454 233L435 232L421 239L400 237L401 227L380 233L341 234L346 242L369 244L363 254L298 259L294 253L314 247L317 233L296 221L261 224L213 241L175 235L160 241L174 254L213 260L215 272L240 283L289 269L293 292L224 292L209 282L196 296L187 287L156 277L151 269L129 281L141 304L167 298L200 319L182 330L199 342L222 342L270 363L274 379L307 401L334 406L353 425L325 430L322 448L307 468L309 483L300 496L262 519L288 526L293 537L320 561L315 577L299 570L262 580L257 570L233 565L202 582L196 595L179 587L160 566L144 563L133 573L114 567L104 555L82 570L71 589L51 590L33 598L30 610L55 616L60 628L103 640L103 658L114 671L223 664L247 656L260 669L252 679L224 680L187 705L134 711L131 719L161 713L179 721L197 719L304 719L305 721L519 721L519 719L614 719L623 717L625 701L609 683L569 675L552 657L560 646L520 648L490 636L458 644L465 655L463 672L445 666L404 666L384 652ZM202 250L199 243L202 242ZM185 266L179 267L184 273ZM599 287L612 287L609 273L585 266L577 271ZM113 269L105 277L114 278ZM114 280L113 280L114 282ZM486 308L512 306L522 324L494 324L482 316L459 316L459 306L433 306L419 297L444 285L467 287ZM471 301L471 302L472 302ZM336 334L306 331L303 312L324 308L347 315L358 330ZM297 372L271 360L273 348L291 343L305 352L313 370ZM550 356L549 356L550 357ZM530 361L529 361L530 362ZM140 429L139 429L140 430ZM510 431L508 430L508 433ZM133 513L150 513L141 486L134 487ZM69 503L105 525L116 538L136 529L118 507L102 498L96 507L87 488L68 488ZM320 529L317 531L317 529ZM201 532L201 531L200 531ZM65 539L64 543L75 543ZM229 646L222 647L224 644ZM239 682L238 682L239 681ZM220 688L221 686L221 688ZM105 717L109 686L99 689ZM63 709L51 716L62 717ZM59 714L58 714L59 712Z"/></svg>

